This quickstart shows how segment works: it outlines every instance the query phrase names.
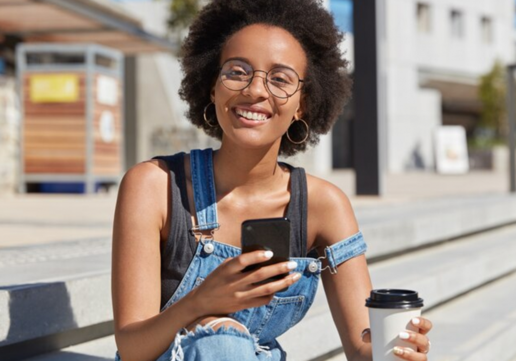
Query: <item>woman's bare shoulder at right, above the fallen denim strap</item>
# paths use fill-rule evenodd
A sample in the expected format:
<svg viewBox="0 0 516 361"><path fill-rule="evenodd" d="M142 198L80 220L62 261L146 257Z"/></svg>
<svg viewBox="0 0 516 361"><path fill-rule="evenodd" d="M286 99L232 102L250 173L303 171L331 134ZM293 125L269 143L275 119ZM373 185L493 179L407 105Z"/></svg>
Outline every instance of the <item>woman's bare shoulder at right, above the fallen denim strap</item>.
<svg viewBox="0 0 516 361"><path fill-rule="evenodd" d="M358 232L348 196L328 180L307 174L308 220L315 245L326 246Z"/></svg>

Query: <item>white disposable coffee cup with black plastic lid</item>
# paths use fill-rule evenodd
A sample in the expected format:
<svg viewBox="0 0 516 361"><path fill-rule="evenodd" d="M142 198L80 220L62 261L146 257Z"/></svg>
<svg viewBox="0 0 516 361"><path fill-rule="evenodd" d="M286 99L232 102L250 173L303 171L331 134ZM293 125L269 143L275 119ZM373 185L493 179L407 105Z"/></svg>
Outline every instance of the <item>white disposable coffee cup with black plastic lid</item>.
<svg viewBox="0 0 516 361"><path fill-rule="evenodd" d="M418 331L410 322L421 316L423 307L423 299L416 291L372 290L365 305L369 307L373 361L399 361L393 352L396 346L416 351L413 344L399 338L402 331Z"/></svg>

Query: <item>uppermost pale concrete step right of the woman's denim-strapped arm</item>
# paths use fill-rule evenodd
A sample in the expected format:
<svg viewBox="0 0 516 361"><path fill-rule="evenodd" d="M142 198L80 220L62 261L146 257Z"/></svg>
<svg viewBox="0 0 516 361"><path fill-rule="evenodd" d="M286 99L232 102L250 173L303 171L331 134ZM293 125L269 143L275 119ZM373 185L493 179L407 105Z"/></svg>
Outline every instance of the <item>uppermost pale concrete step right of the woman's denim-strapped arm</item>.
<svg viewBox="0 0 516 361"><path fill-rule="evenodd" d="M483 194L417 203L357 206L369 259L516 222L516 196Z"/></svg>

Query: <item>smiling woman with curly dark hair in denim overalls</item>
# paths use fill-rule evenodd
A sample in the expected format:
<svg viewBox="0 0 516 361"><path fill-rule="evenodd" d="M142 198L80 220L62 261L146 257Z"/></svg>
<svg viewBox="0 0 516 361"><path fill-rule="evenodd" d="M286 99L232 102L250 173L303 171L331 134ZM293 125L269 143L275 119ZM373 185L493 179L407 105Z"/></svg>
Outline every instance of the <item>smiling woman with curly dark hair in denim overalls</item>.
<svg viewBox="0 0 516 361"><path fill-rule="evenodd" d="M283 360L276 337L306 313L320 277L348 360L371 359L371 284L349 201L278 162L316 144L348 99L341 40L313 0L214 0L200 12L183 48L180 94L189 120L221 146L124 176L112 266L117 357ZM291 259L242 272L272 255L240 254L241 223L284 216ZM424 361L431 324L414 322L418 352L395 353Z"/></svg>

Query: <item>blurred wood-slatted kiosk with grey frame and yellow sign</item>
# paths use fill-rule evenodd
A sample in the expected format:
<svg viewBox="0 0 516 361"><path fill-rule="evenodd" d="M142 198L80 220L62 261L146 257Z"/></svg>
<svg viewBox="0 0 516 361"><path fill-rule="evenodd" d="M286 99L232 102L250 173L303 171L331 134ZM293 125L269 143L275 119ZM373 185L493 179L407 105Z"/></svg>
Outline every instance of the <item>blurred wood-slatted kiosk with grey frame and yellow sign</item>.
<svg viewBox="0 0 516 361"><path fill-rule="evenodd" d="M21 44L20 191L87 192L123 169L123 55L93 44Z"/></svg>

